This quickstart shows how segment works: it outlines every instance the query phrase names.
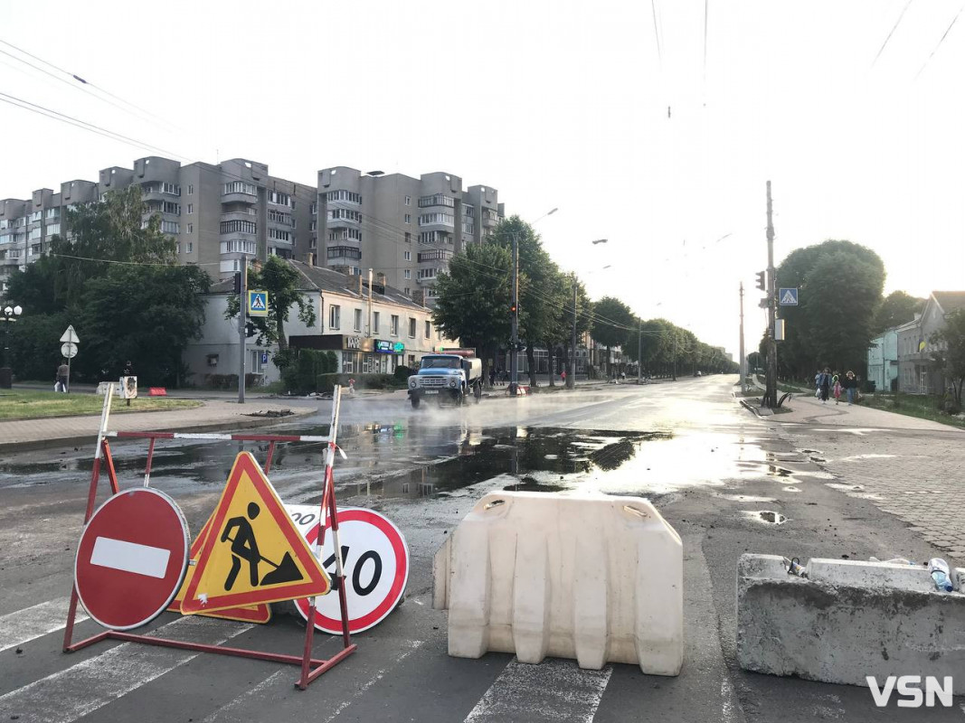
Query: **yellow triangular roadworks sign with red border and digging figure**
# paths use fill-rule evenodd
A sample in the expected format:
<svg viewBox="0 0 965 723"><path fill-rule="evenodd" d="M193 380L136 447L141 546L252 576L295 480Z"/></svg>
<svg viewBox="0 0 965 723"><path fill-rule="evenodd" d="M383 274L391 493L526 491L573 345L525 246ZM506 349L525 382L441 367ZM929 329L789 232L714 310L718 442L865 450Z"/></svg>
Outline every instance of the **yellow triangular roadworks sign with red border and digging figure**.
<svg viewBox="0 0 965 723"><path fill-rule="evenodd" d="M331 582L248 452L234 460L218 500L184 613L325 595Z"/></svg>

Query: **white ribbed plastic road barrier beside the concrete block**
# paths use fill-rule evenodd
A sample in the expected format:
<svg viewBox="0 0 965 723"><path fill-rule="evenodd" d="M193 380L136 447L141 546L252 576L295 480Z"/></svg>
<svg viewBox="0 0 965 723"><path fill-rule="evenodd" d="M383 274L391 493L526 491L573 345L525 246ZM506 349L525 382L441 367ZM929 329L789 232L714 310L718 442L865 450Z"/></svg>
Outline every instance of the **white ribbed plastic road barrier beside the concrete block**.
<svg viewBox="0 0 965 723"><path fill-rule="evenodd" d="M436 553L449 655L575 657L581 668L683 662L683 548L647 500L485 495Z"/></svg>

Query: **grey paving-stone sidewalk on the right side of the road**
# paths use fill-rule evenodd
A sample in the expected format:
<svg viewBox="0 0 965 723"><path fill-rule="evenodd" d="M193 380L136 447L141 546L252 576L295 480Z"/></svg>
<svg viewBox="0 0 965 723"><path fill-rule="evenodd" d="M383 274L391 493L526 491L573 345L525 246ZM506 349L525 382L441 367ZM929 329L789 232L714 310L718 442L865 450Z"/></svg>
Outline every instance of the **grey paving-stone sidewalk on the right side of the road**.
<svg viewBox="0 0 965 723"><path fill-rule="evenodd" d="M907 522L965 567L965 430L805 396L791 409L768 421L798 448L815 450L836 477L829 485Z"/></svg>

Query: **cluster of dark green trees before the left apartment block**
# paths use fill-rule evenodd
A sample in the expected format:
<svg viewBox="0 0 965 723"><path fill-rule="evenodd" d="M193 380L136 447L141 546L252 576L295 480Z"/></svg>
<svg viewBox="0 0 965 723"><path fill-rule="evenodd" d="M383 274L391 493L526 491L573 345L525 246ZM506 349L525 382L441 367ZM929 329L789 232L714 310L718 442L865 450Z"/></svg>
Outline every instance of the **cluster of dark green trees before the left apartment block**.
<svg viewBox="0 0 965 723"><path fill-rule="evenodd" d="M114 191L70 209L70 238L11 277L6 298L23 309L7 360L21 379L49 379L72 324L82 343L71 364L81 381L117 379L126 362L146 383L177 386L181 352L201 335L207 274L176 264L175 243L155 215L142 224L141 189Z"/></svg>

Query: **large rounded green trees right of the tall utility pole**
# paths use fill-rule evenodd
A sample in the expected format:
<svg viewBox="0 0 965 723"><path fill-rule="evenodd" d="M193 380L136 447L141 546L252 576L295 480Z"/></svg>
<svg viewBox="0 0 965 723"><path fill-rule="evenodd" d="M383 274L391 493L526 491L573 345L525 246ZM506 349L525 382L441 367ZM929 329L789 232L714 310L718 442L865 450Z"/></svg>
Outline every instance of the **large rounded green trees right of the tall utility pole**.
<svg viewBox="0 0 965 723"><path fill-rule="evenodd" d="M869 342L885 329L915 318L924 299L896 291L882 298L885 266L878 254L850 241L825 241L787 254L778 287L799 289L797 307L782 307L785 341L778 374L813 379L829 366L866 375ZM761 341L760 353L766 356Z"/></svg>

